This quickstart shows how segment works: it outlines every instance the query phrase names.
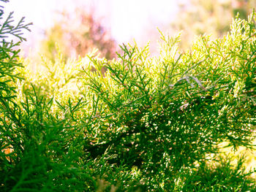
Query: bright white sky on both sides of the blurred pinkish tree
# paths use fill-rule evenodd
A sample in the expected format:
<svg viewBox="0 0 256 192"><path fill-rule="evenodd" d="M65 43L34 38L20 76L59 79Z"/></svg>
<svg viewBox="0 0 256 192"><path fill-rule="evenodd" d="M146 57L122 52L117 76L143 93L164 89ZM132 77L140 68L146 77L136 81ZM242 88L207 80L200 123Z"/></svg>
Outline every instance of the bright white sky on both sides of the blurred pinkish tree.
<svg viewBox="0 0 256 192"><path fill-rule="evenodd" d="M186 1L186 0L183 0ZM15 12L15 18L26 17L33 22L32 33L43 34L54 23L56 10L72 10L79 2L95 7L97 17L103 18L114 39L121 44L135 38L145 40L146 30L155 30L170 23L178 11L181 0L10 0L5 11ZM37 37L26 34L34 41Z"/></svg>

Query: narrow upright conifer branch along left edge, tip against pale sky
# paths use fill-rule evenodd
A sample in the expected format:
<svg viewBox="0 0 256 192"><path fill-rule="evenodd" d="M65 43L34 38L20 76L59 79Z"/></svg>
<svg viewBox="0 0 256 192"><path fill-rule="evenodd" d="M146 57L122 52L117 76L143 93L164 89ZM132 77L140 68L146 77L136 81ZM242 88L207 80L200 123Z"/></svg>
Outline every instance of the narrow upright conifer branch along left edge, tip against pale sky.
<svg viewBox="0 0 256 192"><path fill-rule="evenodd" d="M1 7L1 20L4 11ZM20 22L13 26L12 19L13 12L7 16L4 22L1 22L0 28L0 128L1 128L1 150L8 147L10 143L9 139L12 135L9 135L7 129L12 126L10 119L15 123L18 123L19 119L15 115L18 110L18 105L15 103L15 87L13 87L13 82L21 79L20 74L15 73L15 68L22 66L18 63L18 53L19 50L15 50L15 47L20 45L20 42L9 41L11 37L16 37L20 41L25 40L21 35L22 29L29 30L28 26L30 24L23 24L24 18ZM3 135L4 134L4 135ZM12 138L13 142L18 145L18 141Z"/></svg>

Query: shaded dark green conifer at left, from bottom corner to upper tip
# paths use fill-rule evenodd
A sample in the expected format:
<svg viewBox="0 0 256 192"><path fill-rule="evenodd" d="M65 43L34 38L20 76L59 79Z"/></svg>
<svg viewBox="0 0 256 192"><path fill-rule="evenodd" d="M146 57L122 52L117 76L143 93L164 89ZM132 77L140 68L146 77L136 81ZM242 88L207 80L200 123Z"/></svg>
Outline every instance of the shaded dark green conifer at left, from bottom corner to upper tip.
<svg viewBox="0 0 256 192"><path fill-rule="evenodd" d="M32 85L31 93L25 92L17 101L14 85L21 77L15 68L22 65L15 47L20 42L7 38L12 35L24 40L21 30L29 29L29 24L24 25L22 19L12 26L12 21L10 13L0 29L1 191L55 191L56 186L61 191L75 191L85 189L87 183L93 186L94 180L77 164L81 146L70 144L80 132L50 113L53 99L45 98Z"/></svg>

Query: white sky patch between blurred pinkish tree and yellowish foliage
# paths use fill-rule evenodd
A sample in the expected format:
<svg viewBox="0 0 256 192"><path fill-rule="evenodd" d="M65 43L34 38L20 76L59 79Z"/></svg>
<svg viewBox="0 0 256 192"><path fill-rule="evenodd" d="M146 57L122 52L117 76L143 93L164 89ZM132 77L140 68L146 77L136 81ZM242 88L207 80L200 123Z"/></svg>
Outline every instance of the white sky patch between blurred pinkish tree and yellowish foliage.
<svg viewBox="0 0 256 192"><path fill-rule="evenodd" d="M140 38L151 25L170 23L178 5L172 0L113 0L111 28L118 42Z"/></svg>

